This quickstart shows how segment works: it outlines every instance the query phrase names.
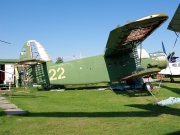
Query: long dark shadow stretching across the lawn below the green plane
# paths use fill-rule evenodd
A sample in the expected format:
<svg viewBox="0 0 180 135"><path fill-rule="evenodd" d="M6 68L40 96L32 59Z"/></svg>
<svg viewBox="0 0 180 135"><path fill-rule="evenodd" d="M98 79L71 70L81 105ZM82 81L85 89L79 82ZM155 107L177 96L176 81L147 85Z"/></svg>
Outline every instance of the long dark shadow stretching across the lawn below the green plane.
<svg viewBox="0 0 180 135"><path fill-rule="evenodd" d="M27 112L25 117L156 117L161 114L180 116L180 109L158 105L125 105L143 109L142 111L122 112ZM144 111L145 110L145 111Z"/></svg>

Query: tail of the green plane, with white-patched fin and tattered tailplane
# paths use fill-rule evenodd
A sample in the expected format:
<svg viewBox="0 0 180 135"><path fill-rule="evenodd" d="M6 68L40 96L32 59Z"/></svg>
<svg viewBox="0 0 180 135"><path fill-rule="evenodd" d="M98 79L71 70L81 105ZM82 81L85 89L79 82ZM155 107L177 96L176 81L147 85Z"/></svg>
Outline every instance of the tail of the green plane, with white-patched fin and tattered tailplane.
<svg viewBox="0 0 180 135"><path fill-rule="evenodd" d="M21 76L20 83L24 86L32 82L42 85L49 84L47 64L50 63L53 63L51 58L39 42L36 40L27 41L21 49L19 61L16 65Z"/></svg>

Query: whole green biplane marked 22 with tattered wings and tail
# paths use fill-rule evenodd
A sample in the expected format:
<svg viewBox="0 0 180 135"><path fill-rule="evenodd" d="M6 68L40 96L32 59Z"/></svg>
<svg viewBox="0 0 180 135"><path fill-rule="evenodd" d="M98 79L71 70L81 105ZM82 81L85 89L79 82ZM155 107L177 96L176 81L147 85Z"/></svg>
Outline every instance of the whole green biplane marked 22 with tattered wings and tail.
<svg viewBox="0 0 180 135"><path fill-rule="evenodd" d="M38 84L67 86L117 81L133 84L136 78L167 67L163 52L151 53L145 58L137 52L137 46L167 19L166 14L152 14L115 28L109 34L104 54L60 64L52 62L39 42L29 40L21 50L18 64L28 65L29 80Z"/></svg>

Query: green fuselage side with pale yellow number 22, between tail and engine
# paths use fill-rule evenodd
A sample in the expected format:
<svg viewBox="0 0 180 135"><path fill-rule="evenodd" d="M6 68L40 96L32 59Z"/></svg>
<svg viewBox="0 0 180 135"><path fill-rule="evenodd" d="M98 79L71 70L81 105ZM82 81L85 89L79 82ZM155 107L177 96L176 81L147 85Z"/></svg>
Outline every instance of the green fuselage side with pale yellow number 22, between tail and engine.
<svg viewBox="0 0 180 135"><path fill-rule="evenodd" d="M61 64L47 63L51 84L87 84L117 81L136 69L134 59L105 58L103 55L78 59Z"/></svg>

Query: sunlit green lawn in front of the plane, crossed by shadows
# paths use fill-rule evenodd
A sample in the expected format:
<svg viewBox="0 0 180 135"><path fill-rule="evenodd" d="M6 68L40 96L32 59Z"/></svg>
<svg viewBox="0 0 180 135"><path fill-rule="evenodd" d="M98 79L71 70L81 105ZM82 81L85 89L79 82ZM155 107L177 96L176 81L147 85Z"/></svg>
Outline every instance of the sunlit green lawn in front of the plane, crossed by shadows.
<svg viewBox="0 0 180 135"><path fill-rule="evenodd" d="M180 97L180 84L161 86L159 100ZM1 109L0 135L180 134L180 104L154 105L147 91L31 90L13 92L11 102L27 114L6 116Z"/></svg>

